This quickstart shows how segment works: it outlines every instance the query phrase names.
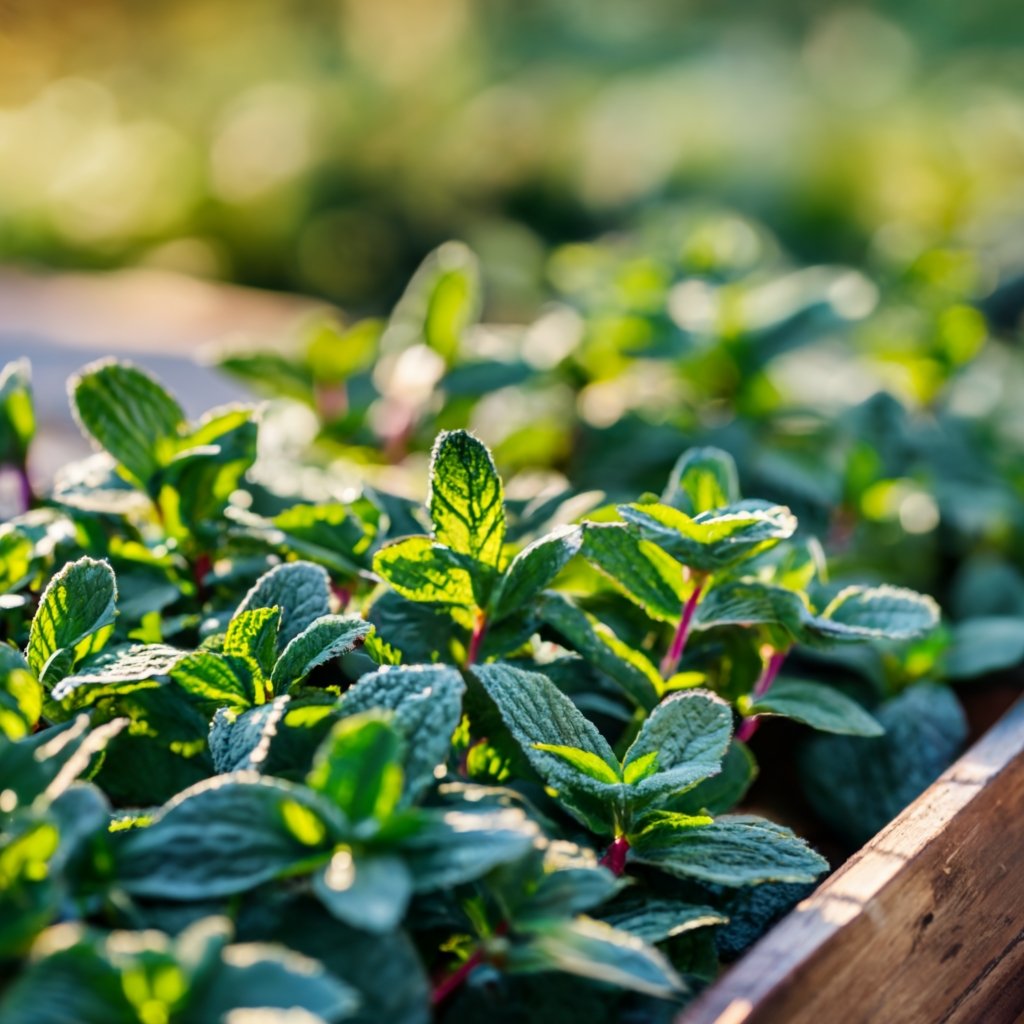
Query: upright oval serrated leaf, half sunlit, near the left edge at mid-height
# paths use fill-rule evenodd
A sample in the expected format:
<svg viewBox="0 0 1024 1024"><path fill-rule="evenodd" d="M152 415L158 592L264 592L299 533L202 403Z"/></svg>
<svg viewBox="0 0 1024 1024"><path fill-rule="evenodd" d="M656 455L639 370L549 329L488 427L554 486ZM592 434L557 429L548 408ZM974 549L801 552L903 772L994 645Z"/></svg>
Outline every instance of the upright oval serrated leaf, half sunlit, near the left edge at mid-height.
<svg viewBox="0 0 1024 1024"><path fill-rule="evenodd" d="M114 570L93 558L71 562L50 580L26 650L44 686L59 682L77 660L102 647L114 628L117 596Z"/></svg>

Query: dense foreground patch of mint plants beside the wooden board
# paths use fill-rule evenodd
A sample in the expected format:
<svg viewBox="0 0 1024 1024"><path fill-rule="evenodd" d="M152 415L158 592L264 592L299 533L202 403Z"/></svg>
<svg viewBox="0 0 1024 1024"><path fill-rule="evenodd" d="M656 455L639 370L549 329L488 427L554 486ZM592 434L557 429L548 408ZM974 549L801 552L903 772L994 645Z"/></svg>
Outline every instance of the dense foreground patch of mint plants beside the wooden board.
<svg viewBox="0 0 1024 1024"><path fill-rule="evenodd" d="M318 502L259 482L250 411L116 362L73 401L103 451L0 527L4 1024L667 1019L828 868L745 813L756 723L823 733L848 836L959 741L921 742L934 603L828 583L720 451L616 519L507 500L458 429L425 508Z"/></svg>

